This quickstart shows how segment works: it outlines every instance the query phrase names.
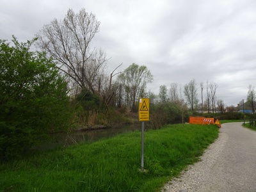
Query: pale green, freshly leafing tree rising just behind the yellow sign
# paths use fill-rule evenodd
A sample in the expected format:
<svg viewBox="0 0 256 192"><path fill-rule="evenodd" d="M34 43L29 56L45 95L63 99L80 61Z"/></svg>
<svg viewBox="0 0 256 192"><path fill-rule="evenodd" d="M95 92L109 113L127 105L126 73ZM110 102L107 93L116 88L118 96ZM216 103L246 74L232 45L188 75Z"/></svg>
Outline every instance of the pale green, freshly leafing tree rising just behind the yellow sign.
<svg viewBox="0 0 256 192"><path fill-rule="evenodd" d="M145 93L147 83L153 81L153 76L145 65L132 63L122 74L118 75L118 81L125 90L125 100L127 106L136 111L136 101Z"/></svg>

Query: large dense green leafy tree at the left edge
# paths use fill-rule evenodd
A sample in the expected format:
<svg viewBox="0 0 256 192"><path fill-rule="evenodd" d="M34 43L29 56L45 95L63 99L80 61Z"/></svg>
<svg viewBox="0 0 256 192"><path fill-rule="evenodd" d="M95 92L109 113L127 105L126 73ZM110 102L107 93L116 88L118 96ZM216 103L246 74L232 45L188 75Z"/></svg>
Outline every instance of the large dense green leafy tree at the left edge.
<svg viewBox="0 0 256 192"><path fill-rule="evenodd" d="M0 154L19 157L67 129L70 120L67 83L42 52L29 51L35 39L13 46L0 40Z"/></svg>

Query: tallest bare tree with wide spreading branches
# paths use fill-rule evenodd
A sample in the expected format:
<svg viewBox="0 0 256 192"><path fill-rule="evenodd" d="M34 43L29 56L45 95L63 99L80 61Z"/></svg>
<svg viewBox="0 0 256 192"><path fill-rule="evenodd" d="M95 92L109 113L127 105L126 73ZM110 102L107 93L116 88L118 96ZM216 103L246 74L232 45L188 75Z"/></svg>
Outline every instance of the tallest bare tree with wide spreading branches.
<svg viewBox="0 0 256 192"><path fill-rule="evenodd" d="M36 46L58 61L60 70L77 86L92 93L99 91L100 75L106 64L104 51L90 49L99 26L95 15L84 8L77 14L68 10L63 20L52 20L36 35Z"/></svg>

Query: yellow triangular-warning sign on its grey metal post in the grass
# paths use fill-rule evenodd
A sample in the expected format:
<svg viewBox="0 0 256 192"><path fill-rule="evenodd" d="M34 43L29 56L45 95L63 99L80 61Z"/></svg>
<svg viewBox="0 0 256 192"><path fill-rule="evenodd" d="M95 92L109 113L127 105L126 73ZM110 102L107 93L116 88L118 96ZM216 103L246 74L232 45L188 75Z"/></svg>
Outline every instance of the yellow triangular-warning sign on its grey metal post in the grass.
<svg viewBox="0 0 256 192"><path fill-rule="evenodd" d="M139 121L141 122L141 171L144 172L144 122L149 121L149 99L139 98Z"/></svg>

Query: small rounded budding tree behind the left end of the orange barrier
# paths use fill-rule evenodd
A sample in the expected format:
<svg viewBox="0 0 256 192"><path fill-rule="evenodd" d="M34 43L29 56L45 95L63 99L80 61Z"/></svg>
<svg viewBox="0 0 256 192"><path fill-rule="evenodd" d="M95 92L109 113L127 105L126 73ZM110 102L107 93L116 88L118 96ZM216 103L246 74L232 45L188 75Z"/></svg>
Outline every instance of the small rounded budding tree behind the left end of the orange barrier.
<svg viewBox="0 0 256 192"><path fill-rule="evenodd" d="M197 93L196 93L196 82L195 79L191 80L188 84L184 86L184 95L191 107L191 111L194 111L196 105L198 104Z"/></svg>

